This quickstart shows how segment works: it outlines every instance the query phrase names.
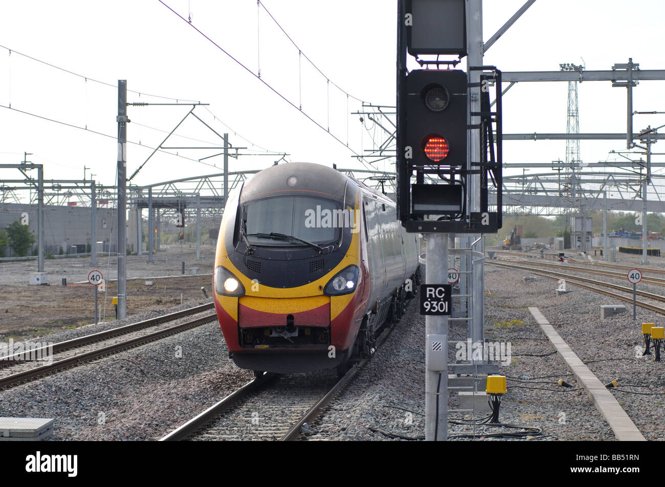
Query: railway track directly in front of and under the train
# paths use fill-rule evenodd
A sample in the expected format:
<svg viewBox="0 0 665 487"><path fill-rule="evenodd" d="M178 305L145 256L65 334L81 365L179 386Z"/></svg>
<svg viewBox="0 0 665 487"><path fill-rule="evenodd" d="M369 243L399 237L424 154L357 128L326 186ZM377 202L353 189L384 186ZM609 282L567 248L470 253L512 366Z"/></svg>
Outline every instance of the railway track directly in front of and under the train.
<svg viewBox="0 0 665 487"><path fill-rule="evenodd" d="M388 326L376 347L388 338ZM252 379L184 425L160 438L178 440L297 440L344 386L364 367L367 359L338 379L334 369L279 375L264 373Z"/></svg>

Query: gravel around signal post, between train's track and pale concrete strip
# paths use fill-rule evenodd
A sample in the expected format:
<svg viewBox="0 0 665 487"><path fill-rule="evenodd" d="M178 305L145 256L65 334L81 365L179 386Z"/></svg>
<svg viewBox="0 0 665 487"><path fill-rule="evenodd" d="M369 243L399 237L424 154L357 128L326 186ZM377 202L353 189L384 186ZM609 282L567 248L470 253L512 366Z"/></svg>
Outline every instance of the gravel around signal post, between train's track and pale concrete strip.
<svg viewBox="0 0 665 487"><path fill-rule="evenodd" d="M522 274L515 273L515 276L521 280ZM549 354L554 347L527 310L527 306L539 306L542 296L532 295L525 299L521 286L505 286L506 275L495 268L486 268L486 338L510 342L513 358L510 365L499 370L514 378L508 381L508 393L503 398L501 423L542 429L543 436L529 436L533 440L613 440L608 424L589 397L578 389L559 355L523 355ZM550 290L553 292L553 288ZM555 320L551 322L557 323ZM412 302L406 318L368 366L325 410L325 415L315 425L319 434L310 439L386 440L392 438L391 434L421 437L424 434L424 334L424 316L418 314L418 303ZM465 340L466 326L454 326L448 339ZM449 357L455 357L456 351L451 343ZM528 379L521 379L522 376ZM558 379L565 379L575 390L563 392L564 388L557 385ZM448 399L449 409L456 409L457 393L449 391ZM463 416L450 411L449 418L453 417ZM464 417L471 418L469 415ZM448 427L450 437L482 432L483 427L477 427L475 431L464 425L450 424ZM495 432L496 429L487 431Z"/></svg>

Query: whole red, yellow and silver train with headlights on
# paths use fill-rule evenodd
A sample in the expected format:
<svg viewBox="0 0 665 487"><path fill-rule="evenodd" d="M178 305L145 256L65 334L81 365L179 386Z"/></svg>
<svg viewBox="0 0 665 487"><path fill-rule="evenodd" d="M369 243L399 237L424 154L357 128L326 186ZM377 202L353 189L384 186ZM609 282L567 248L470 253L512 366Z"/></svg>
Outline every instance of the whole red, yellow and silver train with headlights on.
<svg viewBox="0 0 665 487"><path fill-rule="evenodd" d="M213 295L229 356L255 375L336 369L374 353L420 285L396 205L315 163L273 165L225 205Z"/></svg>

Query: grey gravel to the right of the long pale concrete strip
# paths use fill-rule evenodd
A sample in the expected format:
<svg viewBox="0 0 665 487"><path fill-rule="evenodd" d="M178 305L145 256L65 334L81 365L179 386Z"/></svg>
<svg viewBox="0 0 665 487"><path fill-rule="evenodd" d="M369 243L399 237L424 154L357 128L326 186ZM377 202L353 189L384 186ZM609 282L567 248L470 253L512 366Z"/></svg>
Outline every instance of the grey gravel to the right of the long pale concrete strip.
<svg viewBox="0 0 665 487"><path fill-rule="evenodd" d="M514 282L526 275L514 270L504 272L515 276ZM606 278L601 280L608 282ZM618 284L625 286L627 281ZM559 324L561 337L583 361L590 361L587 365L602 383L618 381L618 387L610 391L646 439L664 439L665 427L656 418L665 412L665 366L654 362L654 355L641 355L642 322L663 326L663 315L637 308L637 319L632 320L631 306L624 302L575 286L571 286L572 292L557 297L556 286L555 281L539 277L529 286L519 286L519 301L538 306L549 322ZM638 288L665 294L659 286L640 283ZM628 312L601 321L601 304L626 304Z"/></svg>

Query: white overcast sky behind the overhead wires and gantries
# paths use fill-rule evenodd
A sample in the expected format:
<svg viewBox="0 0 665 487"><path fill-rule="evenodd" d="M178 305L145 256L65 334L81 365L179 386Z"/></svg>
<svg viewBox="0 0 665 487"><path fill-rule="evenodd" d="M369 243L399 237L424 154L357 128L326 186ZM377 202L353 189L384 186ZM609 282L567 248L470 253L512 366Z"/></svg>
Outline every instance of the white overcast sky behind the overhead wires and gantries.
<svg viewBox="0 0 665 487"><path fill-rule="evenodd" d="M158 0L38 1L0 3L0 45L76 74L116 84L126 79L130 102L170 101L148 94L200 100L210 112L195 113L217 132L229 132L231 144L284 151L290 161L313 161L338 167L362 167L352 159L369 149L370 136L383 140L378 128L362 128L348 115L348 94L374 104L394 105L396 1L394 0L263 0L283 29L331 81L302 59L298 51L255 0L164 0L189 17L192 25L252 72L342 140L305 118L275 92L256 80L226 54L178 18ZM483 5L484 39L523 4L523 0L488 0ZM586 63L606 70L632 57L641 69L665 68L662 55L662 1L537 0L488 50L485 64L503 71L559 70L560 62ZM257 33L257 23L259 32ZM257 44L258 48L257 49ZM116 136L117 90L73 76L0 48L0 105L53 118ZM584 60L584 61L583 61ZM635 110L665 111L664 82L641 82L634 90ZM349 98L349 111L359 108ZM156 147L190 107L129 107L128 140ZM504 98L504 132L565 132L567 83L521 83ZM581 132L625 132L626 90L610 82L579 85ZM663 116L636 116L635 131L659 126ZM227 127L221 124L227 124ZM229 128L230 127L230 128ZM28 160L45 165L45 178L81 179L91 167L95 179L114 183L116 142L107 138L0 108L0 163ZM188 119L180 136L221 144L196 119ZM235 135L238 134L238 135ZM247 138L243 140L240 136ZM255 144L254 146L252 144ZM362 146L361 146L362 144ZM172 138L167 146L200 146ZM622 141L582 142L584 161L615 159L611 149ZM658 146L654 147L654 150ZM128 174L150 154L147 147L128 147ZM175 151L174 151L175 152ZM199 159L218 151L179 150ZM244 152L244 151L243 151ZM565 142L506 142L504 161L549 162L565 158ZM231 159L230 169L270 165L279 156ZM658 161L660 156L655 156ZM219 167L221 157L207 159ZM379 169L394 169L378 163ZM139 185L219 172L196 161L158 153L132 183ZM532 169L531 173L535 170ZM521 173L521 171L520 171ZM88 171L88 177L90 172ZM17 171L0 170L0 178L17 179Z"/></svg>

